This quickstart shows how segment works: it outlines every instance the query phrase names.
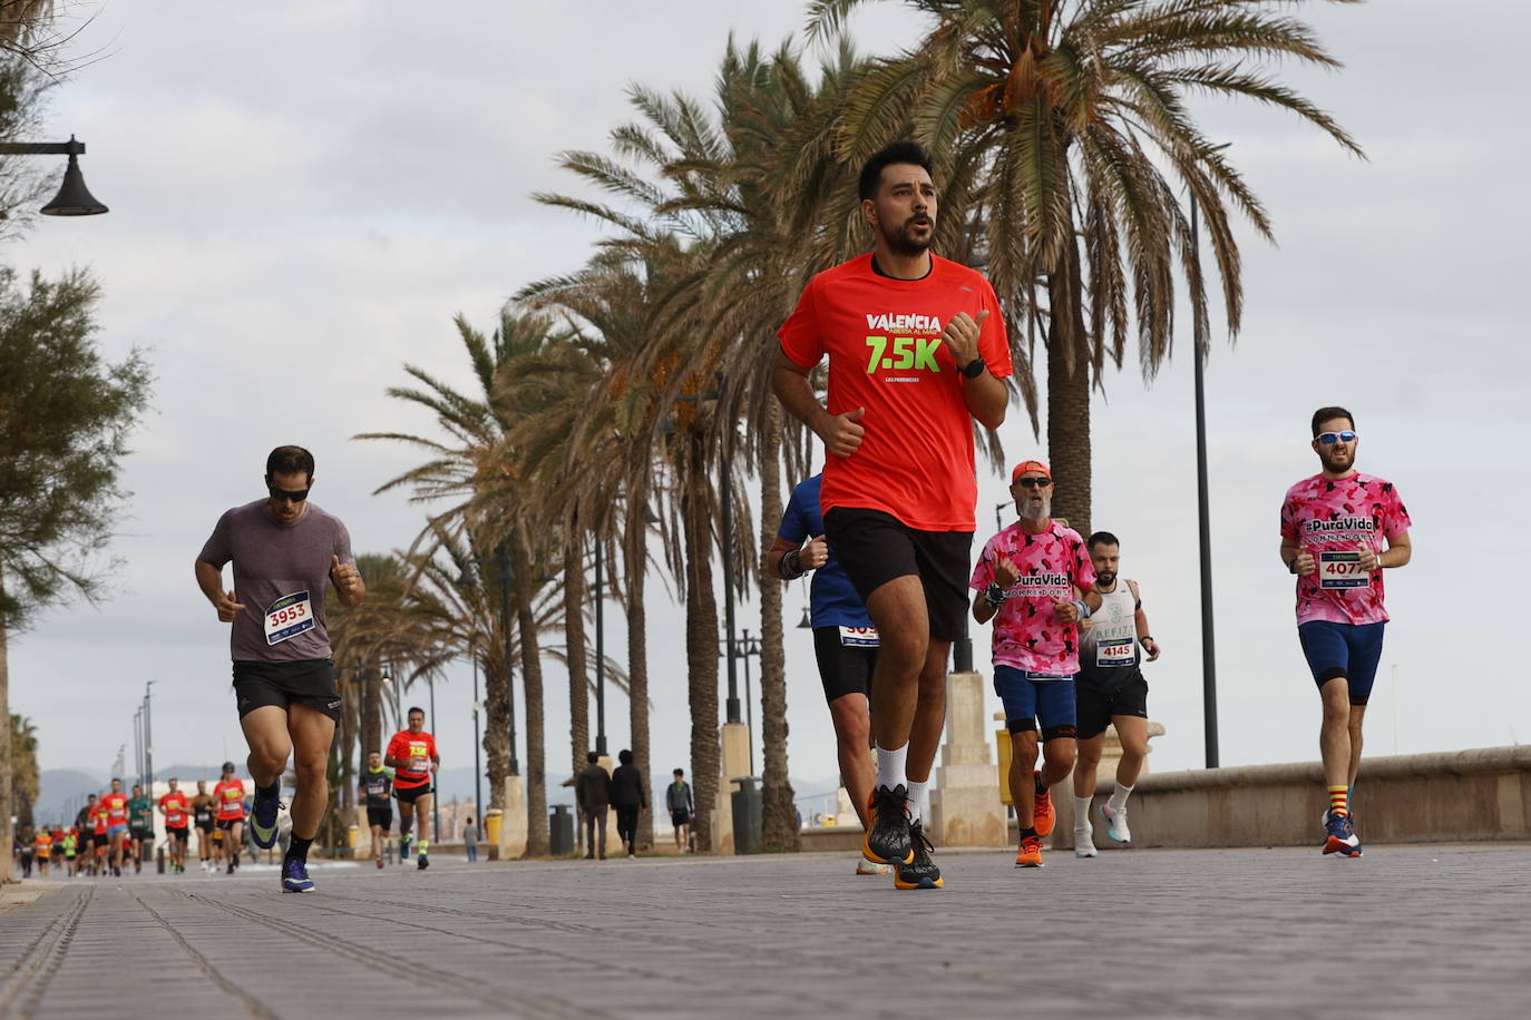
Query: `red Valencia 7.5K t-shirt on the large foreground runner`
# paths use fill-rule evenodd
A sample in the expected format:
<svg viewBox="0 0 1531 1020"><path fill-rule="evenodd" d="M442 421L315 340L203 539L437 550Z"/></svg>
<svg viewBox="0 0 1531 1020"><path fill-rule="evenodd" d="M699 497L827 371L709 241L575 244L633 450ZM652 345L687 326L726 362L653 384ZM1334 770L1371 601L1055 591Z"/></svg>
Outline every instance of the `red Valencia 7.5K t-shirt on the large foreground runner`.
<svg viewBox="0 0 1531 1020"><path fill-rule="evenodd" d="M811 367L830 358L830 414L865 407L862 445L827 457L819 506L874 509L917 531L974 531L978 482L972 416L946 344L958 312L989 318L978 353L994 376L1009 376L1010 349L994 287L983 274L931 255L922 280L873 272L871 255L808 281L781 330L781 350Z"/></svg>

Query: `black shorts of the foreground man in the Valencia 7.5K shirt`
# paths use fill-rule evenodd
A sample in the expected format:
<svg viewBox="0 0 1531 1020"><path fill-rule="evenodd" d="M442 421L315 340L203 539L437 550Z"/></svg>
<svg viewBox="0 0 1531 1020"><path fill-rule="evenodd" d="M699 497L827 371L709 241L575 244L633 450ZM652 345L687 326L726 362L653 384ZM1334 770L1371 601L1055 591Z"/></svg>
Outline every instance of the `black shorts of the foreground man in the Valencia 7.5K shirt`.
<svg viewBox="0 0 1531 1020"><path fill-rule="evenodd" d="M968 633L971 531L917 531L893 514L836 506L824 515L824 537L862 603L912 575L925 587L931 636L958 641Z"/></svg>

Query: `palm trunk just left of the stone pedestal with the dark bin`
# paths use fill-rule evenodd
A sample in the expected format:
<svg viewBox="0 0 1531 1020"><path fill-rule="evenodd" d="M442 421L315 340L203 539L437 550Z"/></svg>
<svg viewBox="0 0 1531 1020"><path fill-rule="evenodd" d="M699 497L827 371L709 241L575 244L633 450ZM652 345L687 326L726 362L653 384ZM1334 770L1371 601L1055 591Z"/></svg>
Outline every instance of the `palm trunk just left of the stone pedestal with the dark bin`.
<svg viewBox="0 0 1531 1020"><path fill-rule="evenodd" d="M686 667L690 693L690 772L695 783L697 852L713 850L712 812L718 804L718 598L712 590L712 514L707 457L700 434L690 436L686 511Z"/></svg>

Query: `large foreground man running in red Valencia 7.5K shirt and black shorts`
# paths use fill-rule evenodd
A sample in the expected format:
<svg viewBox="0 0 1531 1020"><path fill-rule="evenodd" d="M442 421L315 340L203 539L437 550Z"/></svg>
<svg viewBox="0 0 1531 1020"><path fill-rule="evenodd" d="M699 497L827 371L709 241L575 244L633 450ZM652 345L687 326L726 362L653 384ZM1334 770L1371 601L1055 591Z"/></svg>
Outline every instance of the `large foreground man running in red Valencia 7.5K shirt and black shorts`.
<svg viewBox="0 0 1531 1020"><path fill-rule="evenodd" d="M946 656L966 633L972 419L1004 421L1010 353L989 281L929 251L937 197L925 150L877 151L859 194L874 249L804 289L778 333L772 388L824 440L825 540L882 641L862 855L896 864L899 888L935 888L923 821L946 722ZM825 356L827 407L808 382Z"/></svg>

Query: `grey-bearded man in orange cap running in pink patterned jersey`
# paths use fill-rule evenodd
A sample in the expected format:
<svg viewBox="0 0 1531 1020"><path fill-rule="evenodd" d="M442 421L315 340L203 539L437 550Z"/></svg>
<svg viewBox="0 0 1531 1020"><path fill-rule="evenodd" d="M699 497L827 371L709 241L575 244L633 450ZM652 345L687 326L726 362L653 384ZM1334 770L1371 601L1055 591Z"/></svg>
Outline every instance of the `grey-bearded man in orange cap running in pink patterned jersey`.
<svg viewBox="0 0 1531 1020"><path fill-rule="evenodd" d="M994 691L1010 731L1010 800L1021 826L1017 867L1043 864L1041 838L1056 820L1049 789L1067 778L1076 751L1078 621L1101 607L1084 538L1052 520L1052 492L1041 460L1015 466L1010 495L1021 520L984 543L969 583L974 619L994 619ZM1040 772L1036 717L1046 748Z"/></svg>

